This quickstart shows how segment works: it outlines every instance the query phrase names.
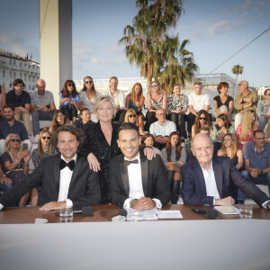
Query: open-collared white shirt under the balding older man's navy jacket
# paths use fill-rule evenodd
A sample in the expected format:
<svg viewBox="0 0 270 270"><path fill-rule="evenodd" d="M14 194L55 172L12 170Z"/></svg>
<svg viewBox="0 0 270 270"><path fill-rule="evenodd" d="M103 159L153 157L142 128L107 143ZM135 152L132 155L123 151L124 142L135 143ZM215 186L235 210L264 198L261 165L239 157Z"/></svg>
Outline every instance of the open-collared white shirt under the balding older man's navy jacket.
<svg viewBox="0 0 270 270"><path fill-rule="evenodd" d="M201 166L201 164L200 164L200 166ZM220 199L220 193L218 191L216 178L215 178L214 171L212 168L212 161L211 161L210 169L208 171L202 167L202 175L203 175L204 182L205 182L206 194L207 194L207 196L214 197L214 199L213 199L213 205L214 205L215 199Z"/></svg>

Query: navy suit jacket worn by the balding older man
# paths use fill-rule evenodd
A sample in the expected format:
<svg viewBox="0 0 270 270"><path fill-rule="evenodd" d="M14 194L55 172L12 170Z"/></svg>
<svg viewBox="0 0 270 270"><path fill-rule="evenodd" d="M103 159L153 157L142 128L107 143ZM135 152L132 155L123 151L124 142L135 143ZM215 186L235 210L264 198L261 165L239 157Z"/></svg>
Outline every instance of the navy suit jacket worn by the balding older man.
<svg viewBox="0 0 270 270"><path fill-rule="evenodd" d="M265 193L239 173L238 169L231 164L229 157L213 156L212 167L221 199L231 196L232 181L257 204L261 205L269 200ZM212 206L213 197L206 194L202 168L195 157L182 166L181 174L184 204Z"/></svg>

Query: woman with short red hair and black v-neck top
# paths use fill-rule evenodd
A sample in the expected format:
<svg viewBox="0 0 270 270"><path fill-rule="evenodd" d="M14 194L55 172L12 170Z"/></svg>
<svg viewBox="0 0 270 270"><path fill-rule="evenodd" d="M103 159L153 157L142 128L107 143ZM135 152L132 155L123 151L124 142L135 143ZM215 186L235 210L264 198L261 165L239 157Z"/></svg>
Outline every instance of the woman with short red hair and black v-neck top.
<svg viewBox="0 0 270 270"><path fill-rule="evenodd" d="M230 114L233 110L233 98L227 94L229 84L226 82L221 82L217 88L219 95L216 95L213 98L213 107L214 107L213 116L217 118L220 113L224 113L228 116L230 120L231 119Z"/></svg>

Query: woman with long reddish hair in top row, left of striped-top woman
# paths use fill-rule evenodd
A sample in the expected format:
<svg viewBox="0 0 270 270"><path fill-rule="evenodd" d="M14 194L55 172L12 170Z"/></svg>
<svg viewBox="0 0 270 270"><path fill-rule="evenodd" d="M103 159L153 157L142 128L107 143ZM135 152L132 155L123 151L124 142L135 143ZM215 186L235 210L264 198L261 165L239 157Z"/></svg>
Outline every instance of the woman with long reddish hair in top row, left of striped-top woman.
<svg viewBox="0 0 270 270"><path fill-rule="evenodd" d="M139 134L144 134L143 114L142 108L144 105L145 97L142 93L142 86L139 83L133 85L131 93L126 97L126 111L132 109L136 112L138 117ZM126 119L126 118L125 118ZM126 122L126 121L125 121Z"/></svg>

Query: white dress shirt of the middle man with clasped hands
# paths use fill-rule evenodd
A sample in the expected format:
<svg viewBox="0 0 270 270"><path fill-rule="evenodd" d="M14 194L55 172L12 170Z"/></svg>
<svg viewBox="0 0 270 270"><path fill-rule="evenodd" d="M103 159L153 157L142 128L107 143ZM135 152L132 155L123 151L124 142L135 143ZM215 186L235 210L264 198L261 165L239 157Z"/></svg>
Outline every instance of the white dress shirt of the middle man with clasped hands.
<svg viewBox="0 0 270 270"><path fill-rule="evenodd" d="M128 160L126 157L124 157L125 160ZM139 200L140 197L144 197L143 187L142 187L142 181L141 181L141 166L140 166L140 158L139 154L137 157L133 158L132 160L138 159L139 163L134 164L131 163L128 166L128 175L129 175L129 185L130 185L130 193L129 198L125 200L123 207L129 208L130 202L132 200ZM158 199L152 199L157 203L157 208L161 208L162 204L160 200Z"/></svg>

